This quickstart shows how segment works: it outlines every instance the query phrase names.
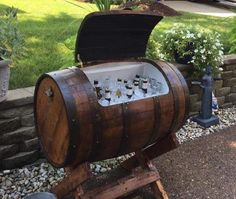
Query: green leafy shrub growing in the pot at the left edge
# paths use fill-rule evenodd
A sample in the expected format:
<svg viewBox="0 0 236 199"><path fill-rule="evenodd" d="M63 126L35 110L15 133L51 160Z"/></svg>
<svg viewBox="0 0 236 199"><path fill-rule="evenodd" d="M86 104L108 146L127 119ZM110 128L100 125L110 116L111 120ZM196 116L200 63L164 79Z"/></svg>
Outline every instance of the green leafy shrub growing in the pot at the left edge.
<svg viewBox="0 0 236 199"><path fill-rule="evenodd" d="M17 29L17 9L6 9L0 16L0 58L15 59L24 54L24 40Z"/></svg>

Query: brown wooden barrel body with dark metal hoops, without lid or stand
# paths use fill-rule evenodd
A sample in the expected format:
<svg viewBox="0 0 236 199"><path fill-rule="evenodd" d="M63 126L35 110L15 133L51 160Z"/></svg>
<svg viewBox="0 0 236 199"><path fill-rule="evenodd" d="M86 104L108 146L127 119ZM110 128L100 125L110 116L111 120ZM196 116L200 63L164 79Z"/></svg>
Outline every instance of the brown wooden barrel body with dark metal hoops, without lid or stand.
<svg viewBox="0 0 236 199"><path fill-rule="evenodd" d="M177 131L189 112L187 84L165 62L151 63L169 93L102 107L79 68L42 75L35 89L35 122L42 148L56 167L98 161L142 149Z"/></svg>

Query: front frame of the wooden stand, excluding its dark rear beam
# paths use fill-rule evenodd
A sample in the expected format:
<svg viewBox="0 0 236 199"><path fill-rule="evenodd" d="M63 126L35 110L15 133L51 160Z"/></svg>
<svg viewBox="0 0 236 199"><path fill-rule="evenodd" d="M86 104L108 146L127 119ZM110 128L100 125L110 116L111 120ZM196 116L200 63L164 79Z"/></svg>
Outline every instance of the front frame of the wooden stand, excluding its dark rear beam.
<svg viewBox="0 0 236 199"><path fill-rule="evenodd" d="M84 181L91 177L87 163L74 168L66 168L67 177L59 182L52 192L58 199L72 192L74 192L75 199L115 199L145 185L150 185L157 199L168 199L160 181L160 175L152 162L144 152L138 151L135 156L142 169L134 169L130 175L92 190L83 189L82 186Z"/></svg>

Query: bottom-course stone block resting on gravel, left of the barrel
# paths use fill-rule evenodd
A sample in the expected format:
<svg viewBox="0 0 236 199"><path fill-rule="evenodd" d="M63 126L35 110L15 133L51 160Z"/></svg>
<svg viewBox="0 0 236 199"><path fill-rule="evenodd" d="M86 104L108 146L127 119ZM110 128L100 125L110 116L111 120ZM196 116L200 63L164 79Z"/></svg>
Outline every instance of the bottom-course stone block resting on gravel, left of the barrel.
<svg viewBox="0 0 236 199"><path fill-rule="evenodd" d="M33 163L39 158L39 151L21 152L12 157L3 159L0 169L13 169Z"/></svg>

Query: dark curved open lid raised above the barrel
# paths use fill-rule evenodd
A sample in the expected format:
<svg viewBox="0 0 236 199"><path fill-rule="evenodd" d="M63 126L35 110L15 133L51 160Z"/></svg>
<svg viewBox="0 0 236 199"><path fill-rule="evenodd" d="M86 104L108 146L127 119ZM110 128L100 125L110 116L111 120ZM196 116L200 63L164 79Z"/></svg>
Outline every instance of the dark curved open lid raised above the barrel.
<svg viewBox="0 0 236 199"><path fill-rule="evenodd" d="M82 62L144 57L148 38L162 19L151 12L94 12L82 21L75 60Z"/></svg>

